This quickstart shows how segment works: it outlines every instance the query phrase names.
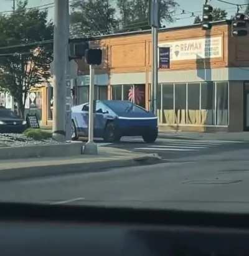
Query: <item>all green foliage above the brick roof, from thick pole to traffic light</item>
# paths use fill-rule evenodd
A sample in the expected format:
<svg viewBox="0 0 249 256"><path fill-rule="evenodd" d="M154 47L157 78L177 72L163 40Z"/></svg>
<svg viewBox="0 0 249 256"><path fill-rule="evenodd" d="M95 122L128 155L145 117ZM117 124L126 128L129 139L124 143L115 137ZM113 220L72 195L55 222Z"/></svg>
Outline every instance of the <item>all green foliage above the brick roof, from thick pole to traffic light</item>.
<svg viewBox="0 0 249 256"><path fill-rule="evenodd" d="M162 24L174 22L178 6L175 0L161 0L159 17ZM150 29L148 0L79 0L72 4L72 36L96 36L117 31Z"/></svg>

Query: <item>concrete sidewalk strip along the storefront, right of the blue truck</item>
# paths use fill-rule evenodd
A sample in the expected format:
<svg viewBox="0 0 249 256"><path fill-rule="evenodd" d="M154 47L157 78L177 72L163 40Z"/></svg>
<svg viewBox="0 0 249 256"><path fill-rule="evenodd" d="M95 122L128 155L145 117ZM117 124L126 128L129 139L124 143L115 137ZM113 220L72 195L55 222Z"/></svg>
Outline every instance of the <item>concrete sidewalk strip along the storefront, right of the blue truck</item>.
<svg viewBox="0 0 249 256"><path fill-rule="evenodd" d="M184 131L159 131L158 138L181 139L181 140L223 140L223 141L248 141L249 132L239 133L217 132L217 133L198 133Z"/></svg>

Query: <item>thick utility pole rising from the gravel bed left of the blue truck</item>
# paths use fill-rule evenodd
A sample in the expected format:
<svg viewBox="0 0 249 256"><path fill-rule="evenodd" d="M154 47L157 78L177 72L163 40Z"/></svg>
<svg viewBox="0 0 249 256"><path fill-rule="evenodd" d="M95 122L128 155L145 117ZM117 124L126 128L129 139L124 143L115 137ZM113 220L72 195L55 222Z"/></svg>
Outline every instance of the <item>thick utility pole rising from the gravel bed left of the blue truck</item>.
<svg viewBox="0 0 249 256"><path fill-rule="evenodd" d="M66 140L66 73L68 61L68 0L54 0L54 120L53 138Z"/></svg>

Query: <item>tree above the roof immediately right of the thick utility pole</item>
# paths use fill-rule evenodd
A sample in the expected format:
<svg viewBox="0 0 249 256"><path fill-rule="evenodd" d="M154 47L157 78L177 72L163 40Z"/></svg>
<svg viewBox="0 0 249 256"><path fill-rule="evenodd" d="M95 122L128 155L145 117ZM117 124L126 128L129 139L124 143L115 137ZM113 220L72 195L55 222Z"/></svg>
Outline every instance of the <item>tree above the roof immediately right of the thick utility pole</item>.
<svg viewBox="0 0 249 256"><path fill-rule="evenodd" d="M70 14L72 36L98 36L116 29L116 9L110 0L80 0L74 2Z"/></svg>

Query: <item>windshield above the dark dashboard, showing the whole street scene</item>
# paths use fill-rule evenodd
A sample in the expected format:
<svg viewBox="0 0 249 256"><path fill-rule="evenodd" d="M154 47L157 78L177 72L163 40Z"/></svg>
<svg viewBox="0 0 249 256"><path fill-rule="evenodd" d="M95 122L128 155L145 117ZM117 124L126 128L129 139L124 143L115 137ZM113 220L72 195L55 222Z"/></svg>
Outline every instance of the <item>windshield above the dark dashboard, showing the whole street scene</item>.
<svg viewBox="0 0 249 256"><path fill-rule="evenodd" d="M248 1L1 0L0 202L249 213Z"/></svg>

